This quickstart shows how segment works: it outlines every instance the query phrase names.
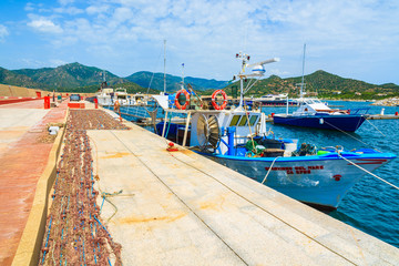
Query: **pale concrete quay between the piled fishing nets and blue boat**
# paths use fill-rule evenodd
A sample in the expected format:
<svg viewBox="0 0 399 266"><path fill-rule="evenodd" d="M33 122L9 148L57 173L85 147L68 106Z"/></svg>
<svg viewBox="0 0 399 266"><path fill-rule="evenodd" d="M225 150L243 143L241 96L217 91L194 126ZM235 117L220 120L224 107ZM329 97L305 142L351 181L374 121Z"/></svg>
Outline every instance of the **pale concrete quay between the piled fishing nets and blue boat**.
<svg viewBox="0 0 399 266"><path fill-rule="evenodd" d="M191 151L166 152L139 126L88 133L124 265L399 262L398 248Z"/></svg>

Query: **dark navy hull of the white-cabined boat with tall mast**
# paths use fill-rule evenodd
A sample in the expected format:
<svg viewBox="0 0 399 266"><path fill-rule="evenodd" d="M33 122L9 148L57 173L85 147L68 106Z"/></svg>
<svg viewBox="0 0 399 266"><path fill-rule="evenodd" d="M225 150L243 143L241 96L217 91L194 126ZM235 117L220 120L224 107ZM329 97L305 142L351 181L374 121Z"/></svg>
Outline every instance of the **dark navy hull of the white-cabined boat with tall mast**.
<svg viewBox="0 0 399 266"><path fill-rule="evenodd" d="M355 132L365 122L365 115L275 115L275 124L285 124L320 130Z"/></svg>

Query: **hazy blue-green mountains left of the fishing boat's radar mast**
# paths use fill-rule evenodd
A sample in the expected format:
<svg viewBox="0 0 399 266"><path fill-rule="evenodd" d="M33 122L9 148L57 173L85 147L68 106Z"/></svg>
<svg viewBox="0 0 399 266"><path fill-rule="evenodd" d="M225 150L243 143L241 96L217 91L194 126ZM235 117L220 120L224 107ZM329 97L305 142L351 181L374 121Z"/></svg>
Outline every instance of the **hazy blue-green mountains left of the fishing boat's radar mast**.
<svg viewBox="0 0 399 266"><path fill-rule="evenodd" d="M84 91L94 92L103 81L104 71L86 66L80 63L70 63L58 68L7 70L0 68L0 83L19 85L43 90L58 91ZM136 72L126 78L120 78L105 71L109 84L113 86L134 88L134 92L146 92L147 89L163 91L163 73L147 71ZM180 89L182 78L166 75L166 91L173 92ZM151 83L151 86L150 86ZM226 81L206 80L197 78L185 78L185 83L191 83L194 90L204 91L208 89L222 89L227 85ZM153 91L151 90L151 91Z"/></svg>

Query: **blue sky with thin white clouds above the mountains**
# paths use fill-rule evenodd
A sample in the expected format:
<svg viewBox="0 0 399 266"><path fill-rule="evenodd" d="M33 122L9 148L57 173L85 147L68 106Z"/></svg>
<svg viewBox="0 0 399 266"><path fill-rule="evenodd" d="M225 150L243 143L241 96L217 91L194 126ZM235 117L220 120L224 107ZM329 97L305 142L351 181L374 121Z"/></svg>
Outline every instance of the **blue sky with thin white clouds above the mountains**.
<svg viewBox="0 0 399 266"><path fill-rule="evenodd" d="M399 84L398 0L0 1L0 66L80 62L126 76L136 71L229 80L235 54L278 57L267 74L317 70Z"/></svg>

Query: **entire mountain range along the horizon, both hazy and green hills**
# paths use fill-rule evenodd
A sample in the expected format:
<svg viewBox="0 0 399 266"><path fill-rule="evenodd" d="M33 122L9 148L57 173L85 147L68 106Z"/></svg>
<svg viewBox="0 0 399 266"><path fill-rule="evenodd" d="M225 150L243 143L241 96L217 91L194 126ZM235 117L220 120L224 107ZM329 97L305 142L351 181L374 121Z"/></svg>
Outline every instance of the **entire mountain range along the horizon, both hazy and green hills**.
<svg viewBox="0 0 399 266"><path fill-rule="evenodd" d="M58 90L70 92L95 92L103 80L104 71L86 66L80 63L64 64L58 68L7 70L0 68L0 83L27 86L43 90ZM140 71L126 78L120 78L105 71L106 81L115 88L126 88L127 92L158 93L163 91L164 74ZM272 75L258 81L247 95L260 96L264 94L289 93L290 96L299 94L301 78L282 79ZM180 89L182 78L166 75L166 91L175 92ZM380 99L399 95L399 86L393 83L375 85L364 81L345 79L325 71L316 71L305 76L306 91L318 93L320 98L340 99ZM187 76L185 83L190 83L194 90L202 94L211 94L216 89L223 89L227 93L236 94L237 83L228 84L227 81L216 81Z"/></svg>

